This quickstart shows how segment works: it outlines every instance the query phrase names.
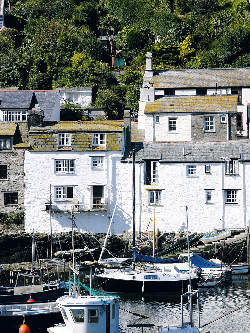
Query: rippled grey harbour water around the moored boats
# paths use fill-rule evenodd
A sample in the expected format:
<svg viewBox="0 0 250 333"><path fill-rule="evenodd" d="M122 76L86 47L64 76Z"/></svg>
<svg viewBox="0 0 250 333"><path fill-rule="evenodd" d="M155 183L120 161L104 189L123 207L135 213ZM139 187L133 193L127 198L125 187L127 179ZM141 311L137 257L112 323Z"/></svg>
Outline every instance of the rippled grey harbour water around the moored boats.
<svg viewBox="0 0 250 333"><path fill-rule="evenodd" d="M80 281L90 285L90 274L80 275ZM92 287L102 290L95 280ZM200 288L200 324L205 325L212 320L233 311L250 302L250 275L233 275L232 283L222 287ZM149 318L141 318L120 309L120 328L128 332L127 324L163 324L173 325L181 322L181 297L178 294L154 295L122 295L120 308L136 312ZM194 301L194 319L197 320L197 305ZM189 321L189 303L185 300L184 321ZM249 333L250 304L207 325L211 333ZM38 323L39 325L39 323ZM157 328L144 328L145 333L157 332ZM45 333L41 332L41 333ZM131 333L141 332L141 329L130 329ZM97 332L98 333L98 332Z"/></svg>

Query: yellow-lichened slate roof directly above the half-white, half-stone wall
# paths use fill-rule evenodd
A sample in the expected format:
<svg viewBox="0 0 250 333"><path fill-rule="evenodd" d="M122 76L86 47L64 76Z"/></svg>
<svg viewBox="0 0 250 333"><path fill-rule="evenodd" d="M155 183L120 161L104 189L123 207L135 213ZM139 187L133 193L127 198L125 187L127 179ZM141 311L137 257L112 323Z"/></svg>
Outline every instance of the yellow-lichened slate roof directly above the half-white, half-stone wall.
<svg viewBox="0 0 250 333"><path fill-rule="evenodd" d="M237 95L164 96L146 103L144 113L237 112ZM174 104L174 105L171 105Z"/></svg>

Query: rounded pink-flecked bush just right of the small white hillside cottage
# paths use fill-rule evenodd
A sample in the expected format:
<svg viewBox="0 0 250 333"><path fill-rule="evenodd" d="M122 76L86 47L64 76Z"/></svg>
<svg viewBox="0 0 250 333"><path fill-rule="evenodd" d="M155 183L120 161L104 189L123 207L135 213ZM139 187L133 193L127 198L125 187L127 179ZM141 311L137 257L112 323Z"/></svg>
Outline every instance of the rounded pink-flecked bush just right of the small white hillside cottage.
<svg viewBox="0 0 250 333"><path fill-rule="evenodd" d="M114 94L110 89L99 89L95 99L95 108L103 108L106 106L109 120L115 120L118 117L120 105L120 98Z"/></svg>

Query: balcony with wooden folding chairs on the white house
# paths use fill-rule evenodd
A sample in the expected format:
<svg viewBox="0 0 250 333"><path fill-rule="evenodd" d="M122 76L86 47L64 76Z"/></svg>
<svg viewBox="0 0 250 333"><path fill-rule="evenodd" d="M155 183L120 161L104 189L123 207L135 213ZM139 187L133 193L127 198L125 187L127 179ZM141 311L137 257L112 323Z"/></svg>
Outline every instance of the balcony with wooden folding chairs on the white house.
<svg viewBox="0 0 250 333"><path fill-rule="evenodd" d="M73 198L73 199L54 199L51 203L51 211L92 211L92 210L107 210L107 198ZM44 199L43 210L49 211L49 199Z"/></svg>

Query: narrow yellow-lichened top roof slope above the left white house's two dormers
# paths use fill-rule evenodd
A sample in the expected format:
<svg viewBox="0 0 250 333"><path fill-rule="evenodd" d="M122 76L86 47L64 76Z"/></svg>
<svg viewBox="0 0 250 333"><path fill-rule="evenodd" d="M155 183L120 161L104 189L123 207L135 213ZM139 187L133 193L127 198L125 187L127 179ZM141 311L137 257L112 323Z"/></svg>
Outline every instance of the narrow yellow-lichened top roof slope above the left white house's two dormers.
<svg viewBox="0 0 250 333"><path fill-rule="evenodd" d="M122 132L123 121L58 121L44 122L43 127L31 127L30 133L44 132Z"/></svg>

